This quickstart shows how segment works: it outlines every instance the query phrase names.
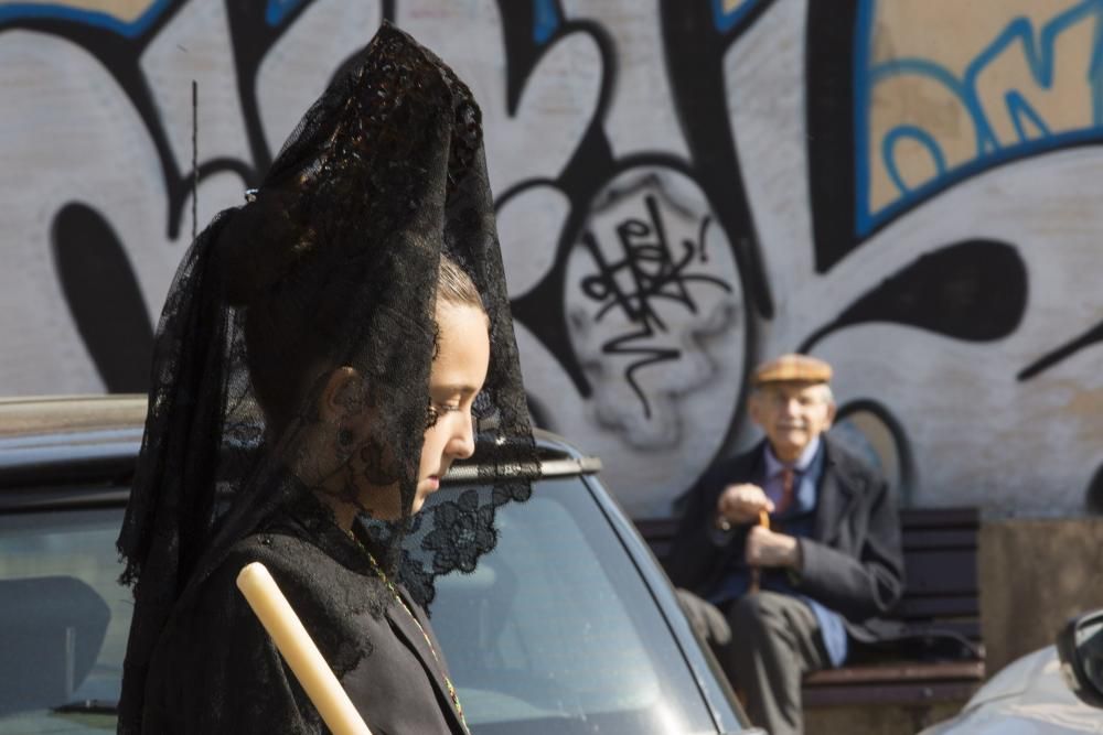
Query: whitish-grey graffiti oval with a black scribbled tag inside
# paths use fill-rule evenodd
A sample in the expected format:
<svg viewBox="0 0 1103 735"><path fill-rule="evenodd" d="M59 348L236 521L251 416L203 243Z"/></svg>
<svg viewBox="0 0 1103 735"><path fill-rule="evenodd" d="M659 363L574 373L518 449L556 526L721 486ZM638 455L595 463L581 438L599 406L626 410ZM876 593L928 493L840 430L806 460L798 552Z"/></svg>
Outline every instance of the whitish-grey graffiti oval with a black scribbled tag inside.
<svg viewBox="0 0 1103 735"><path fill-rule="evenodd" d="M743 334L738 271L693 193L674 172L622 174L599 196L568 261L568 326L595 417L638 448L682 446L686 433L702 441L689 429L697 417L683 414L694 391L711 394L717 413L735 403L717 377L742 365L742 350L731 348Z"/></svg>

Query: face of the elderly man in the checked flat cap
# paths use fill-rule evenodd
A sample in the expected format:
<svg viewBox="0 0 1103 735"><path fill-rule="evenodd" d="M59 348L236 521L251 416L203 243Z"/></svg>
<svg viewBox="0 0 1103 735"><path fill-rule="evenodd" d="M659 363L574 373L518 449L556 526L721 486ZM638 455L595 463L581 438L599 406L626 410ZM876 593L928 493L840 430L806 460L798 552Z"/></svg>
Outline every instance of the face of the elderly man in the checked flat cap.
<svg viewBox="0 0 1103 735"><path fill-rule="evenodd" d="M831 428L835 404L829 396L823 383L771 383L751 393L751 421L765 432L779 460L794 462Z"/></svg>

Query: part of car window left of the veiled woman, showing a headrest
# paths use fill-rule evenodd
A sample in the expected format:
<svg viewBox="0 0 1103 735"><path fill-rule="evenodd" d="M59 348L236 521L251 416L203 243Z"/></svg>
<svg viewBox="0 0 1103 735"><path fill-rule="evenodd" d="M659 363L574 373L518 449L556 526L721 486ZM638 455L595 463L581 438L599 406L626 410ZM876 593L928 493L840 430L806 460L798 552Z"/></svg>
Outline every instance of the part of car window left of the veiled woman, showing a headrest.
<svg viewBox="0 0 1103 735"><path fill-rule="evenodd" d="M118 701L131 613L121 521L116 508L0 516L0 733L115 729L75 703Z"/></svg>

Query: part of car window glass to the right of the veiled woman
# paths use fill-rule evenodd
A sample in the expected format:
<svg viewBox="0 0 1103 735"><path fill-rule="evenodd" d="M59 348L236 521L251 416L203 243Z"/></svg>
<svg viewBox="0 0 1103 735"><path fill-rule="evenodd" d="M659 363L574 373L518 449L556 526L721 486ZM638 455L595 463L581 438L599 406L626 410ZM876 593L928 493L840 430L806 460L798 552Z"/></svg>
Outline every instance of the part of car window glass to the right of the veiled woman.
<svg viewBox="0 0 1103 735"><path fill-rule="evenodd" d="M473 733L716 732L581 478L542 480L497 519L497 548L439 580L431 607Z"/></svg>

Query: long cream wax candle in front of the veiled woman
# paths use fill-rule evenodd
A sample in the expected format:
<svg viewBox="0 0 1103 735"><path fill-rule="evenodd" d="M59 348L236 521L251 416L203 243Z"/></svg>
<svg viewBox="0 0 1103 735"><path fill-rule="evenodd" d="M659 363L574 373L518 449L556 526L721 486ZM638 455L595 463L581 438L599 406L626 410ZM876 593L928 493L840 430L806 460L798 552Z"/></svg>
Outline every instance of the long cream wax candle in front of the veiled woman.
<svg viewBox="0 0 1103 735"><path fill-rule="evenodd" d="M334 735L372 735L265 565L253 562L242 569L237 588Z"/></svg>

